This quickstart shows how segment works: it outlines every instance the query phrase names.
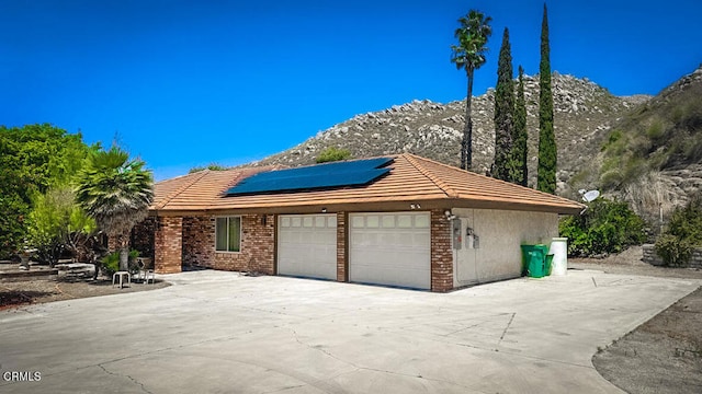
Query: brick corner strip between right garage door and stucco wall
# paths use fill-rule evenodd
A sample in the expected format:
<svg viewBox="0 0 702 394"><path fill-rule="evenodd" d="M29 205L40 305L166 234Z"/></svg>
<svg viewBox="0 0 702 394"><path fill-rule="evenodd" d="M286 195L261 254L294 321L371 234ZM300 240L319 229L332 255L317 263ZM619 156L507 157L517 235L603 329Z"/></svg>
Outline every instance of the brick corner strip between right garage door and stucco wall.
<svg viewBox="0 0 702 394"><path fill-rule="evenodd" d="M431 211L431 291L453 289L453 251L451 223L443 210Z"/></svg>

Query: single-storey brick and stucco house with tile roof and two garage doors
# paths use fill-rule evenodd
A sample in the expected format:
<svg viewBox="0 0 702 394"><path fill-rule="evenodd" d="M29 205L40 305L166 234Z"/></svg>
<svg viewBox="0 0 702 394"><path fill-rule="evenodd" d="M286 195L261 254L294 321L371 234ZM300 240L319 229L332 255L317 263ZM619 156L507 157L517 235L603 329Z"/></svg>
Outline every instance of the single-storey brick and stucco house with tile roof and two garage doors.
<svg viewBox="0 0 702 394"><path fill-rule="evenodd" d="M414 154L159 182L133 234L183 266L448 291L519 277L584 205Z"/></svg>

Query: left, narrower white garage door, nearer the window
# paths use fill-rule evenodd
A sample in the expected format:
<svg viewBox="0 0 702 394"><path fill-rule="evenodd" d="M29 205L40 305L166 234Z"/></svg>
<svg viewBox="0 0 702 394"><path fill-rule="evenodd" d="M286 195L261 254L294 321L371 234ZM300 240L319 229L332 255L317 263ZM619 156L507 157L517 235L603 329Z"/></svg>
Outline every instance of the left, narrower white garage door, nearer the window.
<svg viewBox="0 0 702 394"><path fill-rule="evenodd" d="M337 279L337 215L278 217L278 274Z"/></svg>

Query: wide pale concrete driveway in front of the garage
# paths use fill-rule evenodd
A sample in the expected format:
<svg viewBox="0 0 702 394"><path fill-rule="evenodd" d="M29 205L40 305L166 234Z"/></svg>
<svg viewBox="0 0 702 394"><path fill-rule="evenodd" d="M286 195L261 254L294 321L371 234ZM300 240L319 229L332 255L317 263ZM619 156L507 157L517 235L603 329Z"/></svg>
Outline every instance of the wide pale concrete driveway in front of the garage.
<svg viewBox="0 0 702 394"><path fill-rule="evenodd" d="M570 270L437 294L161 278L174 286L0 312L0 392L621 393L592 368L598 347L701 285Z"/></svg>

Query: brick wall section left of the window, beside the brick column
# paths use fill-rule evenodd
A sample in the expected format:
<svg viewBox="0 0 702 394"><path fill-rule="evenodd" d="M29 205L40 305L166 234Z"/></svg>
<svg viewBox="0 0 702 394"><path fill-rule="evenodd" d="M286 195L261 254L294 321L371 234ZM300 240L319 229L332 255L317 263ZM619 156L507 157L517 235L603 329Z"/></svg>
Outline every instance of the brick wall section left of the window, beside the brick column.
<svg viewBox="0 0 702 394"><path fill-rule="evenodd" d="M215 218L183 218L183 265L186 267L214 267Z"/></svg>

